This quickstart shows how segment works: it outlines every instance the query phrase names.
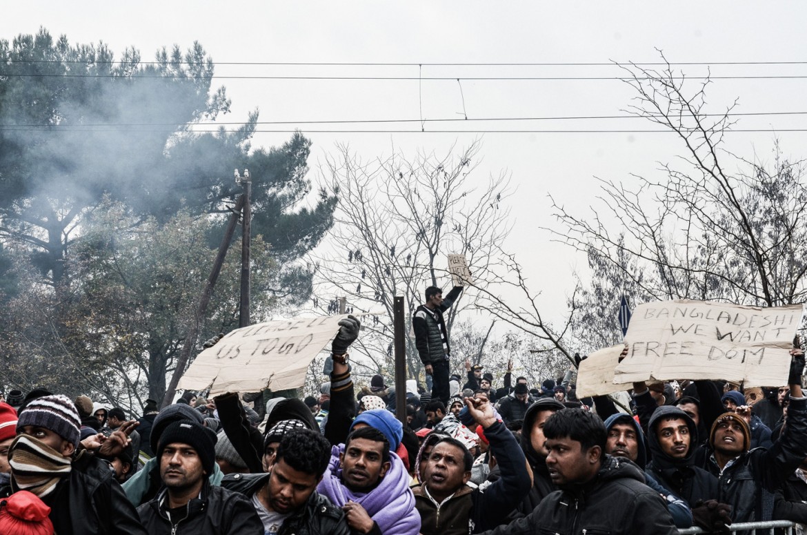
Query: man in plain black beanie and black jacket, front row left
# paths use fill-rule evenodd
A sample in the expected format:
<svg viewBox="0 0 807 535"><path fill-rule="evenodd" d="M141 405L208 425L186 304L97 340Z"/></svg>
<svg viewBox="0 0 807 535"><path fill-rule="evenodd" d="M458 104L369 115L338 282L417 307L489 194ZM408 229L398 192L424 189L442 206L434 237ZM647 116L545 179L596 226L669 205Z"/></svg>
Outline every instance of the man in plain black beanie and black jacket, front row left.
<svg viewBox="0 0 807 535"><path fill-rule="evenodd" d="M199 423L177 421L160 436L162 489L137 512L148 533L263 533L263 524L243 495L213 487L216 436Z"/></svg>

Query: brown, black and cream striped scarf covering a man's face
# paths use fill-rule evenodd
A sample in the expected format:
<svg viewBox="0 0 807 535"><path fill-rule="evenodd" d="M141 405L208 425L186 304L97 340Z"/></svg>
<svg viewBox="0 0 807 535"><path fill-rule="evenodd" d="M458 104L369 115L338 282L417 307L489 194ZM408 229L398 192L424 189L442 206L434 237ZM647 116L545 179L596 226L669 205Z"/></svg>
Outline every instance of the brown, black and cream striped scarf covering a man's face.
<svg viewBox="0 0 807 535"><path fill-rule="evenodd" d="M8 451L11 488L44 498L70 475L70 459L32 436L20 435Z"/></svg>

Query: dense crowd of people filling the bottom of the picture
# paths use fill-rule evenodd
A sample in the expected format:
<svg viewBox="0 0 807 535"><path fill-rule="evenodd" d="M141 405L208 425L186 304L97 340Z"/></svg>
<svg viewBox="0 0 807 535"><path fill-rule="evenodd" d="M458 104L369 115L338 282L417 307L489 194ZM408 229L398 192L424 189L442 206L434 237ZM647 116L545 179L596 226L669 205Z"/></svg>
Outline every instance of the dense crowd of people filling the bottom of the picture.
<svg viewBox="0 0 807 535"><path fill-rule="evenodd" d="M642 382L584 399L573 373L533 388L512 382L511 362L496 388L466 361L466 377L432 391L407 381L402 423L391 381L353 384L359 327L340 322L319 398L186 392L132 419L86 396L10 391L0 533L653 535L807 522L801 349L778 389ZM447 348L427 346L433 370Z"/></svg>

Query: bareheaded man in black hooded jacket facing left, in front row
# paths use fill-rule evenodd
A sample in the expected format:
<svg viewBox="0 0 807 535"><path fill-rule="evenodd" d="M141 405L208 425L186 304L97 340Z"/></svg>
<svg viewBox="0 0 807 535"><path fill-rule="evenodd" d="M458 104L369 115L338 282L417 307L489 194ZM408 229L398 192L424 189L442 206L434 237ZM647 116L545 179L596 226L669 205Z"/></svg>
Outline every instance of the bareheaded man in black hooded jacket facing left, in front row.
<svg viewBox="0 0 807 535"><path fill-rule="evenodd" d="M663 499L644 484L637 465L604 453L605 426L597 415L563 409L546 420L543 432L546 465L560 490L528 516L485 535L678 533Z"/></svg>

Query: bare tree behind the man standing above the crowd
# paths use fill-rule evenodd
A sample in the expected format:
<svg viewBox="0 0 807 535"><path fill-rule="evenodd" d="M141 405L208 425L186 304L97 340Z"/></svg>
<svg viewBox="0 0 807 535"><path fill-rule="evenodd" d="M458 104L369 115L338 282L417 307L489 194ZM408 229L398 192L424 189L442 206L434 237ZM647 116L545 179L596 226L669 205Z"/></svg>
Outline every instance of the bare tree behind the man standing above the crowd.
<svg viewBox="0 0 807 535"><path fill-rule="evenodd" d="M410 377L421 364L412 334L412 312L429 285L451 287L446 255L464 254L475 286L500 277L500 243L510 230L508 179L492 176L481 186L472 180L479 142L445 156L395 153L363 162L341 145L327 160L328 190L339 197L328 249L319 261L315 308L333 312L346 297L348 310L372 313L353 348L367 357L358 377L389 369L392 356L393 298L407 309ZM466 289L446 314L449 331L461 310L477 306L478 293Z"/></svg>

